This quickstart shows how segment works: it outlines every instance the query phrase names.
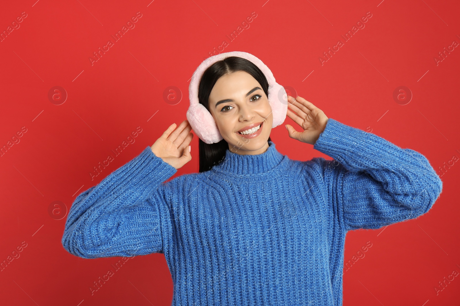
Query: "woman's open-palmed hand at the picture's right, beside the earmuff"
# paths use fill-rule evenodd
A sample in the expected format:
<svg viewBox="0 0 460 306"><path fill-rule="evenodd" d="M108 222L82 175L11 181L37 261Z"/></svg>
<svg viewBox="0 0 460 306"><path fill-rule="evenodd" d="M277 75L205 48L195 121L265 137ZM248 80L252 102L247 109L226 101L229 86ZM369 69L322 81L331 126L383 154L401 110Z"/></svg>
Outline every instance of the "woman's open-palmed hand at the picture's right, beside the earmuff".
<svg viewBox="0 0 460 306"><path fill-rule="evenodd" d="M291 125L286 124L289 137L307 144L315 145L319 135L326 128L328 117L313 103L297 96L296 99L288 95L288 117L304 129L298 132Z"/></svg>

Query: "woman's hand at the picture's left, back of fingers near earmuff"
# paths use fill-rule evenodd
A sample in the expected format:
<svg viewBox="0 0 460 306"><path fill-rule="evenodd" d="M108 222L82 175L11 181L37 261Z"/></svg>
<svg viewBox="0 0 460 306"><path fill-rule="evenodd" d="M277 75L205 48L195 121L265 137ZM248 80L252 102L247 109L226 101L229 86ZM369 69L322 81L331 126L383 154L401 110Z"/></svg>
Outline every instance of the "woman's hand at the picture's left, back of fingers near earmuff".
<svg viewBox="0 0 460 306"><path fill-rule="evenodd" d="M193 139L193 133L190 133L192 127L187 120L174 130L175 127L176 123L171 124L151 149L156 156L178 169L192 159L189 144Z"/></svg>

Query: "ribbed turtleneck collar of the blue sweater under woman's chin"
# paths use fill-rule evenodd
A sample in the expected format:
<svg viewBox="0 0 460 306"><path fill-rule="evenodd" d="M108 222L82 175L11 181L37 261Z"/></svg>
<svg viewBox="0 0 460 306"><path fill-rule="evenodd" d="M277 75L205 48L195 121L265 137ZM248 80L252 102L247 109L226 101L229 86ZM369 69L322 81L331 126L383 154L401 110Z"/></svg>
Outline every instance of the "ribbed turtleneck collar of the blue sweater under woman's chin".
<svg viewBox="0 0 460 306"><path fill-rule="evenodd" d="M272 141L269 141L268 145L264 153L256 155L240 155L227 149L224 160L214 166L213 170L236 175L269 172L281 163L284 156L276 150L276 145Z"/></svg>

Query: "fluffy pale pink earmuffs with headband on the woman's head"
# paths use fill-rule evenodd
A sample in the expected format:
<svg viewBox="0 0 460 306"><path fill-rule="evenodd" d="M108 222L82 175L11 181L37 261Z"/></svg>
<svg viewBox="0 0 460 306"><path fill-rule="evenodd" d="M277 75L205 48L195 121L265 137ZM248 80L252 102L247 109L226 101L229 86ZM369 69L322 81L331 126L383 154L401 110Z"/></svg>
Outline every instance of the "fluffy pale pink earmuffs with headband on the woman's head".
<svg viewBox="0 0 460 306"><path fill-rule="evenodd" d="M267 78L268 81L268 101L273 114L272 128L282 124L284 119L286 119L286 114L288 112L288 100L284 87L276 83L273 73L271 73L270 69L257 57L242 51L220 53L218 55L208 57L200 64L200 66L198 66L198 68L196 68L195 72L193 72L189 86L190 106L186 114L187 120L189 121L195 134L207 144L219 142L223 138L219 133L219 129L217 128L216 122L214 121L211 113L198 101L198 86L203 73L209 66L216 61L223 60L229 56L245 58L248 61L253 62L253 64L259 67L259 69L265 74L265 78Z"/></svg>

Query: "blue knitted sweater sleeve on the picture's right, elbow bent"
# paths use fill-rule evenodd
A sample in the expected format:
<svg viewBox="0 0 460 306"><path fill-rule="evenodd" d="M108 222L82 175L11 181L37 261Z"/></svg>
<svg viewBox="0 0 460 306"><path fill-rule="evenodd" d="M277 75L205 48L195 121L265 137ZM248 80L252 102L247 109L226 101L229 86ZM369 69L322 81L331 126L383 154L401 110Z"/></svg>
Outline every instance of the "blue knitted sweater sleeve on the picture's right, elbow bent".
<svg viewBox="0 0 460 306"><path fill-rule="evenodd" d="M381 228L419 217L435 203L443 182L425 156L329 118L313 146L334 158L321 163L330 200L346 230Z"/></svg>

